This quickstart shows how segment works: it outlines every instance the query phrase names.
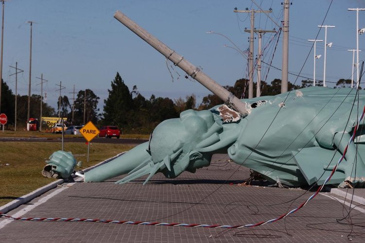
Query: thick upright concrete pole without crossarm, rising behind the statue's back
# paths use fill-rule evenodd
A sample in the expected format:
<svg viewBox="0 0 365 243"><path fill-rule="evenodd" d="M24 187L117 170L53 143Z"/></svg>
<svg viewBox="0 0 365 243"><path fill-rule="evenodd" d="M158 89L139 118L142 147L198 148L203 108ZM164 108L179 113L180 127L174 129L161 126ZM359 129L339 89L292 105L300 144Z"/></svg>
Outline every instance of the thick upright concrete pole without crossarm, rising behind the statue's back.
<svg viewBox="0 0 365 243"><path fill-rule="evenodd" d="M283 27L283 50L282 50L282 71L281 71L281 93L288 91L288 70L289 70L289 0L284 0Z"/></svg>

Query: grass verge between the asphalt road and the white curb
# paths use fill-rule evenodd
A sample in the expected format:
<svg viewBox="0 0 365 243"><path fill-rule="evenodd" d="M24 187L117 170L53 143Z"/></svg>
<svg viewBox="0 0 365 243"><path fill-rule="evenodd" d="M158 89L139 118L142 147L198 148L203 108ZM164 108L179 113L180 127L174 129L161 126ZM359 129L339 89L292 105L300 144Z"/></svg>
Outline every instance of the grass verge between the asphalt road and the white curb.
<svg viewBox="0 0 365 243"><path fill-rule="evenodd" d="M5 132L6 135L1 136L4 134L0 131L0 137L20 135L19 132ZM34 134L37 134L36 137L40 137L42 133L21 132L21 134L18 137L33 137ZM89 162L87 163L87 145L85 143L69 142L64 144L64 150L70 151L76 161L82 162L82 167L76 167L76 170L95 165L123 151L130 150L132 147L122 144L91 142ZM49 156L54 151L61 149L61 142L0 142L0 206L55 181L56 179L44 177L41 171ZM9 165L5 166L5 164Z"/></svg>

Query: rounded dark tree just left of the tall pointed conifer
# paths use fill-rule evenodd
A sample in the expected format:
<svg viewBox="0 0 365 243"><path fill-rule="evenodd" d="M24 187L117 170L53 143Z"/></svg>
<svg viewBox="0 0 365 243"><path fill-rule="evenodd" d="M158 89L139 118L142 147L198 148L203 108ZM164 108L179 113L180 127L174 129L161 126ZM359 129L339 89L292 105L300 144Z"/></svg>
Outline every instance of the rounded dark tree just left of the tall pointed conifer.
<svg viewBox="0 0 365 243"><path fill-rule="evenodd" d="M86 93L86 96L85 96ZM77 98L74 103L73 112L73 124L84 124L87 121L92 121L97 124L100 119L99 108L97 108L99 103L99 97L91 89L80 90L77 93ZM84 104L85 104L85 114L84 114ZM68 120L72 120L72 110L68 115ZM84 124L85 125L85 124Z"/></svg>

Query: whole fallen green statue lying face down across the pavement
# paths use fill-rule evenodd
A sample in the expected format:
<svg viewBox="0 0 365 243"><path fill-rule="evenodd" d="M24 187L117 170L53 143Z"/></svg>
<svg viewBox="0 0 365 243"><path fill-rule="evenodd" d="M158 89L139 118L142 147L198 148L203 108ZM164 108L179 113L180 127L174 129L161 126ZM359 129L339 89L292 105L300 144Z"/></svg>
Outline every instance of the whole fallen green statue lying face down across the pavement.
<svg viewBox="0 0 365 243"><path fill-rule="evenodd" d="M273 183L321 185L344 154L363 111L364 95L364 91L350 88L308 87L244 100L248 114L244 117L226 106L187 110L180 118L157 125L148 142L83 176L86 182L100 182L127 174L116 182L123 184L148 175L145 184L156 173L167 178L184 171L194 173L209 166L213 154L227 153L233 162ZM327 184L364 186L363 124ZM47 163L52 166L45 170L60 177L69 175L65 170L74 170L68 161L55 165L51 159Z"/></svg>

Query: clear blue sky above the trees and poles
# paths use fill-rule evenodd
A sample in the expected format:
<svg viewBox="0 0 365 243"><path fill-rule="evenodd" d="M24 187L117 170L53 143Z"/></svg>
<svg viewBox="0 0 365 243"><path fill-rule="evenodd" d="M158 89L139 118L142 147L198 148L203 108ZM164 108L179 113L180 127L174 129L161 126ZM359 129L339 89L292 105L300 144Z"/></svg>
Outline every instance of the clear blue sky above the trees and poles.
<svg viewBox="0 0 365 243"><path fill-rule="evenodd" d="M102 109L107 89L117 71L125 84L132 89L136 85L147 99L151 94L157 97L185 98L194 93L198 102L210 93L198 82L186 80L184 72L175 69L181 76L174 82L167 69L165 58L137 35L124 27L113 16L119 10L159 40L183 55L195 66L221 85L233 86L234 82L246 77L247 62L243 56L223 45L232 44L223 36L207 34L214 31L226 35L240 49L248 48L249 16L245 13L233 13L238 9L273 9L270 17L280 24L282 20L282 0L7 0L5 2L3 79L15 93L15 63L24 72L18 75L18 93L28 94L29 82L29 46L30 26L33 25L32 49L32 88L31 92L40 94L39 79L44 84L47 103L56 107L59 91L56 85L62 81L62 95L72 98L75 91L89 88L98 95ZM290 6L289 71L313 78L313 50L308 39L314 39L319 31L330 0L293 0ZM327 42L333 42L327 49L328 86L340 78L351 78L352 52L356 48L356 12L348 8L365 8L361 0L333 0L324 25L335 25L327 32ZM257 14L255 27L278 29L275 23L264 14ZM365 11L359 13L359 27L365 27ZM264 62L269 62L275 43L269 43L273 37L266 33L263 45L268 44L264 52ZM324 29L318 39L324 40ZM359 36L360 60L364 60L365 35ZM272 65L281 68L281 40ZM255 40L255 56L257 39ZM316 62L316 79L323 79L324 43L317 43L316 54L322 54ZM306 61L307 56L308 60ZM267 66L262 65L265 80ZM281 78L281 72L271 68L266 81L270 83ZM295 81L289 75L289 81ZM300 84L299 78L296 84ZM256 79L255 79L256 80Z"/></svg>

